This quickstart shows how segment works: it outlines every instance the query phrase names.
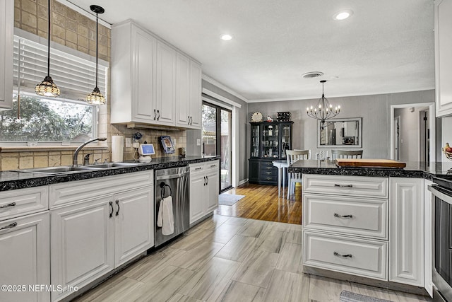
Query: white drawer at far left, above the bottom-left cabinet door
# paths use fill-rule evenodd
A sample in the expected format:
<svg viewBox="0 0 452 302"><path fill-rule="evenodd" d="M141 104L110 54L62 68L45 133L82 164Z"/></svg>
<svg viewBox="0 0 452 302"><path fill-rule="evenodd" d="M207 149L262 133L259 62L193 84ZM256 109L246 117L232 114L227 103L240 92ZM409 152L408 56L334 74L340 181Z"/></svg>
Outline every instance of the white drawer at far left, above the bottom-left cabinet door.
<svg viewBox="0 0 452 302"><path fill-rule="evenodd" d="M49 209L47 185L0 192L0 220L47 209Z"/></svg>

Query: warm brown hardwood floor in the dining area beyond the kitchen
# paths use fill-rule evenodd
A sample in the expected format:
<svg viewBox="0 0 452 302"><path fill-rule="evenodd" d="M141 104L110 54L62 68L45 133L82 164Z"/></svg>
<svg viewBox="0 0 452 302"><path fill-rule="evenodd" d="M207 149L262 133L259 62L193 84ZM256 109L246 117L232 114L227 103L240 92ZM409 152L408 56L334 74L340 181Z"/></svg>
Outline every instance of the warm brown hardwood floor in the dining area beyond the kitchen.
<svg viewBox="0 0 452 302"><path fill-rule="evenodd" d="M287 189L283 197L278 197L278 187L274 185L246 184L223 194L245 195L232 206L220 205L215 214L265 221L302 223L302 187L295 188L295 196L287 200Z"/></svg>

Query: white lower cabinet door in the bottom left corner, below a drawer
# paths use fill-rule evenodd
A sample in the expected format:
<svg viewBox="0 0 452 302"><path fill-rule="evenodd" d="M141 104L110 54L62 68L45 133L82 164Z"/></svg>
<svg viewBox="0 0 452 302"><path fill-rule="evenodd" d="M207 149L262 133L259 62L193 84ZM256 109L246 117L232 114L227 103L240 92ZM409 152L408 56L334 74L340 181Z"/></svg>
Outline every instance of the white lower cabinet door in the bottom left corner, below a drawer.
<svg viewBox="0 0 452 302"><path fill-rule="evenodd" d="M0 301L49 301L49 246L49 211L0 221Z"/></svg>

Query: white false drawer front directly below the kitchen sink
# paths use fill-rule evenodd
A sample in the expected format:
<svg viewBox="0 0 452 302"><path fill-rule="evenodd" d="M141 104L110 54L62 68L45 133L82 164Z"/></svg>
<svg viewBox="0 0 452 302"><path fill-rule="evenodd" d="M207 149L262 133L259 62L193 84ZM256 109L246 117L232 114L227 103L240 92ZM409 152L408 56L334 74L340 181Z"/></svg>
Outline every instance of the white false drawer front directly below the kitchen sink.
<svg viewBox="0 0 452 302"><path fill-rule="evenodd" d="M66 206L102 195L138 189L154 184L154 171L126 173L89 180L76 180L49 185L49 207Z"/></svg>

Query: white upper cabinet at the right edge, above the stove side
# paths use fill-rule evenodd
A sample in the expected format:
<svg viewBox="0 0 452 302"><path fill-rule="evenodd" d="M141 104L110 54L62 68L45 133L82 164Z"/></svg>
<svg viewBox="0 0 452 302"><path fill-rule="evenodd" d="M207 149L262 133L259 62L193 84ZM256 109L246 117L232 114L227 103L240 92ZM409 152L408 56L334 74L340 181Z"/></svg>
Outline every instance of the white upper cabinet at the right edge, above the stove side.
<svg viewBox="0 0 452 302"><path fill-rule="evenodd" d="M452 0L434 1L436 117L452 115Z"/></svg>

